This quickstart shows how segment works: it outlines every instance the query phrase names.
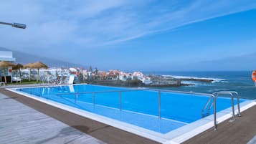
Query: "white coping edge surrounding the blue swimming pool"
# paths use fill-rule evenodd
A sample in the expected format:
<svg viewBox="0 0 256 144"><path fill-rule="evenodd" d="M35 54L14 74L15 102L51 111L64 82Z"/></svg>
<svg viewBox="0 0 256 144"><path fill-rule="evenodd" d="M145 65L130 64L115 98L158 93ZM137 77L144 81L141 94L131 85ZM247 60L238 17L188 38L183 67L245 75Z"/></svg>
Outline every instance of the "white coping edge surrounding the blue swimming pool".
<svg viewBox="0 0 256 144"><path fill-rule="evenodd" d="M57 86L60 86L60 85L57 85ZM36 87L38 87L38 86L36 86ZM56 87L56 85L54 85L53 87ZM21 87L19 87L19 88L21 88ZM28 88L28 87L24 87L24 88ZM42 97L34 97L34 95L32 96L25 92L18 92L18 91L16 91L16 89L17 89L17 87L16 88L8 88L6 90L15 92L19 95L24 95L24 96L32 98L34 100L38 100L39 102L44 102L48 105L52 105L53 107L57 107L62 110L67 110L68 112L72 112L77 115L81 115L83 117L90 118L91 120L95 120L100 123L105 123L106 125L111 125L115 128L119 128L121 130L125 130L130 133L134 133L141 137L148 138L150 140L154 140L158 143L182 143L182 142L188 140L189 138L194 137L194 135L197 135L199 133L204 132L205 130L207 130L209 128L212 128L214 125L213 115L209 115L208 117L204 117L201 120L197 120L194 123L189 123L188 125L184 125L181 128L172 130L169 133L161 134L161 133L153 132L152 130L147 130L145 128L138 127L136 125L131 125L131 124L120 122L118 120L113 120L111 118L104 117L104 116L101 116L98 114L87 112L85 110L80 110L75 107L70 107L68 105L64 105L59 102L47 100ZM248 100L246 102L242 102L240 104L241 112L244 110L247 110L248 108L252 107L253 105L256 105L256 102L253 100ZM235 110L235 112L237 113L237 109ZM217 122L218 123L221 123L224 120L229 119L230 117L232 117L232 107L229 107L225 110L217 112Z"/></svg>

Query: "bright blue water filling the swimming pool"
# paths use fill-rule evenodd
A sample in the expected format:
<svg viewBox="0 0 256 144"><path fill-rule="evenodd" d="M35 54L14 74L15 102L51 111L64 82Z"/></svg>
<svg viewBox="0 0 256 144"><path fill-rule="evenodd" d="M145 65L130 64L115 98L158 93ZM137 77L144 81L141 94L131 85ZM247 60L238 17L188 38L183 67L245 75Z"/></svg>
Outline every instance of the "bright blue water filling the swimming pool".
<svg viewBox="0 0 256 144"><path fill-rule="evenodd" d="M209 99L207 95L161 92L159 112L159 93L156 90L98 85L33 87L17 90L158 133L168 133L201 119L202 108ZM240 100L243 101L245 100ZM219 97L217 111L227 107L231 107L231 99Z"/></svg>

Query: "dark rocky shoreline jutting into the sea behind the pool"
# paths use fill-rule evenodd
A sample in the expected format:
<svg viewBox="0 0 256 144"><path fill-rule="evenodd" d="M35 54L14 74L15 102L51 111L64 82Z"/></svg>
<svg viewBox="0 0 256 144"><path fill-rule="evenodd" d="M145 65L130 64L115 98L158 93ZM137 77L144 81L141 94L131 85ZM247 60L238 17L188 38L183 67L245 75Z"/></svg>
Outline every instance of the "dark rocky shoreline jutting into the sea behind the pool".
<svg viewBox="0 0 256 144"><path fill-rule="evenodd" d="M207 82L212 83L214 80L201 79L201 78L174 78L170 76L162 75L149 75L152 83L150 85L143 84L141 80L92 80L89 83L94 85L108 85L115 87L181 87L189 86L194 84L188 84L187 81L191 82Z"/></svg>

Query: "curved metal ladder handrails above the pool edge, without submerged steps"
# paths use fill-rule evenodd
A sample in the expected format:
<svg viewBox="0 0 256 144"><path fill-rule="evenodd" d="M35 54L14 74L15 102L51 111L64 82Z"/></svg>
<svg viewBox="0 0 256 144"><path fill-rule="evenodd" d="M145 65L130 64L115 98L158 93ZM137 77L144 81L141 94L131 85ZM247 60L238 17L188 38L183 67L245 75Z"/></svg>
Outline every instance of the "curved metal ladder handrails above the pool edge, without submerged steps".
<svg viewBox="0 0 256 144"><path fill-rule="evenodd" d="M240 100L239 100L239 95L237 92L235 91L220 91L220 92L214 92L213 95L214 95L214 101L213 101L213 105L214 105L214 130L217 130L217 115L216 115L216 110L217 110L217 107L216 107L216 100L217 100L217 97L219 95L231 95L231 100L232 100L232 116L233 116L233 120L235 120L235 115L234 115L234 95L237 96L237 108L238 108L238 116L241 117L241 114L240 114Z"/></svg>

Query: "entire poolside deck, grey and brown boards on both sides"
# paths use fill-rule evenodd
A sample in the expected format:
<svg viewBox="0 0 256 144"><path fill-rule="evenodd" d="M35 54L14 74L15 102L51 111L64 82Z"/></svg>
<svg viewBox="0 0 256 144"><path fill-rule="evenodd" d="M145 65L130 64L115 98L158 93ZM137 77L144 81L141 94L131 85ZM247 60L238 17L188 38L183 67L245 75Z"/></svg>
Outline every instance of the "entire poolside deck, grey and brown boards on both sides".
<svg viewBox="0 0 256 144"><path fill-rule="evenodd" d="M4 89L0 89L0 132L0 143L156 144L153 140ZM226 120L216 131L210 128L184 144L246 144L250 140L253 144L255 135L256 106L242 112L242 117L237 117L233 123Z"/></svg>

